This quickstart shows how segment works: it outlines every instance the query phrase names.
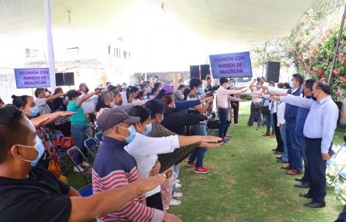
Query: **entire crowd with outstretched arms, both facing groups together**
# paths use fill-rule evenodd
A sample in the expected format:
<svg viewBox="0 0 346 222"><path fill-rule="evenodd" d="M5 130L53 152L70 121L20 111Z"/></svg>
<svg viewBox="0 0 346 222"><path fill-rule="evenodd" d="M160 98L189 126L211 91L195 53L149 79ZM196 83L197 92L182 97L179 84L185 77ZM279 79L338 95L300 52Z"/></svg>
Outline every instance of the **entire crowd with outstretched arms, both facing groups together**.
<svg viewBox="0 0 346 222"><path fill-rule="evenodd" d="M254 119L260 128L267 123L264 136L276 138L277 161L288 163L281 169L299 175L304 163L304 175L295 178L300 182L295 186L309 187L300 194L312 198L306 206L324 207L326 161L338 114L330 86L324 81L304 82L301 74L276 87L274 82L264 83L261 78L249 86L247 126ZM158 79L133 86L107 82L90 92L81 83L66 93L61 87L52 94L37 88L36 99L13 95L8 105L0 100L1 218L180 221L166 213L169 206L181 204L180 163L188 158L187 166L195 173L211 171L204 163L207 150L229 142L232 115L238 126L243 101L238 95L247 88L235 88L228 78L212 86L209 75L204 80L179 80L179 84L175 88ZM207 122L215 116L218 137L208 136ZM50 132L59 130L73 138L83 154L73 158L73 171L81 172L90 167L83 158L88 157L83 142L94 136L96 128L103 139L93 162L94 195L81 198L61 173L59 149ZM57 169L52 170L52 162Z"/></svg>

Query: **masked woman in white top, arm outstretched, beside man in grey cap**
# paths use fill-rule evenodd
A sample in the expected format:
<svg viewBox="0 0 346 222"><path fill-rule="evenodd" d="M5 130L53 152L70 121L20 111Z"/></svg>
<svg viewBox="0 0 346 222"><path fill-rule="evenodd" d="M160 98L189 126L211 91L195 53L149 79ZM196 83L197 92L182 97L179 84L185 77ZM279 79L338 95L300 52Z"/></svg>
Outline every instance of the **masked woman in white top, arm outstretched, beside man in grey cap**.
<svg viewBox="0 0 346 222"><path fill-rule="evenodd" d="M217 141L217 137L184 137L184 136L168 136L161 138L150 138L149 135L152 130L151 115L147 108L142 106L135 106L129 111L130 116L140 117L140 122L134 124L135 137L133 140L128 141L125 150L132 155L137 163L140 177L149 177L150 172L157 163L157 154L170 153L177 148L190 145L197 142ZM132 135L132 133L131 133ZM147 206L157 209L164 209L162 206L160 186L156 187L153 191L145 194L147 198Z"/></svg>

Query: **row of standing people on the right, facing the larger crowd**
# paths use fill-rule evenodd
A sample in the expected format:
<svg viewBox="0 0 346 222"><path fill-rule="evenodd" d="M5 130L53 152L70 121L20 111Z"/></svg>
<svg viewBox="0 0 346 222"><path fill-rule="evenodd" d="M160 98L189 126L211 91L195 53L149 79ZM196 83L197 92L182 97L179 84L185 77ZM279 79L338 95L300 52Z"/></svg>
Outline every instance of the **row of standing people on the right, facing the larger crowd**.
<svg viewBox="0 0 346 222"><path fill-rule="evenodd" d="M253 123L254 113L258 112L258 126L263 125L262 114L274 129L271 136L276 137L277 147L273 149L277 162L286 163L281 169L287 175L304 175L296 177L295 187L309 188L307 193L299 194L311 198L307 207L325 207L326 196L326 162L330 159L338 108L330 94L331 88L325 81L307 79L301 74L294 74L289 83L274 82L264 85L254 80L252 91L251 115L248 126ZM265 102L263 102L265 101ZM269 102L267 102L269 101ZM263 113L268 106L268 111ZM268 116L269 114L269 116ZM269 122L269 123L268 123Z"/></svg>

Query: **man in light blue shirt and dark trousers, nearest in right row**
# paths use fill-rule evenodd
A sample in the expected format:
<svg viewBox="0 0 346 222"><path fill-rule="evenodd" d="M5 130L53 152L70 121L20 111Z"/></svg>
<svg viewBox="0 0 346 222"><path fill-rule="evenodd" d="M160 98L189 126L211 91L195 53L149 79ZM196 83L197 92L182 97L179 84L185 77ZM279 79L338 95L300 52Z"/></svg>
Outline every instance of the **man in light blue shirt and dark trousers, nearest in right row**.
<svg viewBox="0 0 346 222"><path fill-rule="evenodd" d="M333 141L334 131L338 118L338 108L330 96L331 88L328 83L318 81L313 84L312 99L302 97L270 97L286 104L303 108L310 108L304 124L303 134L308 156L310 189L306 194L299 196L312 198L307 207L325 207L326 197L326 162Z"/></svg>

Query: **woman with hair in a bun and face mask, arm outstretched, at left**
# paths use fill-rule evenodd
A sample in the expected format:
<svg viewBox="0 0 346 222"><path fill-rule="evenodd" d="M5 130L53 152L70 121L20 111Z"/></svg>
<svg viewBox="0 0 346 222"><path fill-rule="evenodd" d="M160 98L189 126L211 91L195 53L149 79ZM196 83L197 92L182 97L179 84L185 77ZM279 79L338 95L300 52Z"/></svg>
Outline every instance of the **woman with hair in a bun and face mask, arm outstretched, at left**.
<svg viewBox="0 0 346 222"><path fill-rule="evenodd" d="M57 150L53 143L53 141L50 140L49 132L44 127L44 125L47 125L53 121L55 121L59 117L64 116L71 116L74 114L73 112L66 112L66 111L59 111L55 113L50 114L43 114L39 115L38 108L35 104L34 98L30 96L12 96L12 104L15 105L18 109L23 111L25 116L32 120L36 127L36 134L38 138L40 139L40 142L44 145L44 151L42 152L42 157L39 160L39 163L46 169L48 169L48 164L51 160L53 160L57 166L60 168L60 160L59 156L56 154ZM55 172L53 172L55 173ZM61 174L58 172L55 174L56 177L60 177Z"/></svg>

